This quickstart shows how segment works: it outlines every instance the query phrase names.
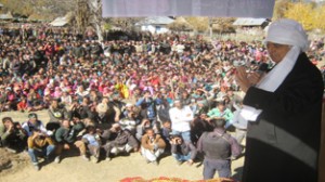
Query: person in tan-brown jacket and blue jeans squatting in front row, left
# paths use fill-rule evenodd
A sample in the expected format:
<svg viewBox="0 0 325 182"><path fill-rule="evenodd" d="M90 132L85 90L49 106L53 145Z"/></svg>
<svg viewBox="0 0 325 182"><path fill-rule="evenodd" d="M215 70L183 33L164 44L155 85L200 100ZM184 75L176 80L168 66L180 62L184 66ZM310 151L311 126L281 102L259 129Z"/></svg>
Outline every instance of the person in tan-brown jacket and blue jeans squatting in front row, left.
<svg viewBox="0 0 325 182"><path fill-rule="evenodd" d="M34 129L27 140L28 155L36 170L40 169L38 157L44 157L46 162L55 150L53 140L46 135L40 129Z"/></svg>

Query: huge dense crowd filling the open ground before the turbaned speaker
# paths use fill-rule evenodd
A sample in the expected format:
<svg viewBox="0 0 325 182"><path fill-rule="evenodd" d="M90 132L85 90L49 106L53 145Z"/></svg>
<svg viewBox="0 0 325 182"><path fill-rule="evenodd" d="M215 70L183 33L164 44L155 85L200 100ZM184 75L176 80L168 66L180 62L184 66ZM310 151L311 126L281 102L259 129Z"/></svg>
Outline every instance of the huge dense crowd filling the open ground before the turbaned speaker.
<svg viewBox="0 0 325 182"><path fill-rule="evenodd" d="M39 156L60 162L70 148L95 162L140 152L155 165L167 152L179 165L203 154L205 179L216 170L230 178L245 138L245 127L235 138L226 133L243 100L236 67L274 65L261 41L168 34L99 42L57 28L0 32L0 112L28 113L22 125L2 118L1 145L27 148L38 170ZM324 40L310 50L317 64ZM35 114L42 109L50 120Z"/></svg>

